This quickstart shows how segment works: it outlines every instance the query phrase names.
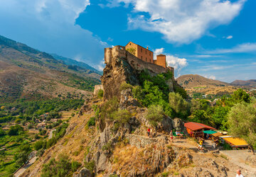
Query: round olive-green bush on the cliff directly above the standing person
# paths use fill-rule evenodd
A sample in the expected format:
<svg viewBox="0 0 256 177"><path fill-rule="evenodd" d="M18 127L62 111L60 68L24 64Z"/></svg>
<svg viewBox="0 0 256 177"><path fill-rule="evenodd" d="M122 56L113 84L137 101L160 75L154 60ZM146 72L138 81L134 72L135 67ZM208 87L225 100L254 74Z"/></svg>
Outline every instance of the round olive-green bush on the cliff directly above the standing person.
<svg viewBox="0 0 256 177"><path fill-rule="evenodd" d="M148 112L146 113L146 119L149 120L149 123L156 127L158 122L163 120L164 110L160 105L151 105L149 106Z"/></svg>

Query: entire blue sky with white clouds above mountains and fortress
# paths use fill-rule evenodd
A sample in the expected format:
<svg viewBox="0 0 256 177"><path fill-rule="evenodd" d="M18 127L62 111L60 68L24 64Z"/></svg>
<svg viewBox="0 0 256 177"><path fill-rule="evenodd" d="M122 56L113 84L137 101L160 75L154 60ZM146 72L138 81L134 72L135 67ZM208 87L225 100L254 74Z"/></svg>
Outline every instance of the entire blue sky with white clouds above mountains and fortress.
<svg viewBox="0 0 256 177"><path fill-rule="evenodd" d="M0 0L0 35L104 67L104 47L133 41L175 75L256 79L255 0Z"/></svg>

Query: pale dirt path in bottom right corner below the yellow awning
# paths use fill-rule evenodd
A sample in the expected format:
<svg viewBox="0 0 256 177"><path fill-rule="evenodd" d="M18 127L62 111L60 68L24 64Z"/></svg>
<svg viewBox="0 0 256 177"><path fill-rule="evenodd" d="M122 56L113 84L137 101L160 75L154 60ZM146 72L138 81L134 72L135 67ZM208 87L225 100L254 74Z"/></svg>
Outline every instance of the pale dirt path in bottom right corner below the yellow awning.
<svg viewBox="0 0 256 177"><path fill-rule="evenodd" d="M252 155L252 153L248 152L248 150L222 150L220 153L228 156L230 162L236 164L241 169L244 169L244 171L242 171L243 176L256 176L256 169L245 164L245 159L247 156Z"/></svg>

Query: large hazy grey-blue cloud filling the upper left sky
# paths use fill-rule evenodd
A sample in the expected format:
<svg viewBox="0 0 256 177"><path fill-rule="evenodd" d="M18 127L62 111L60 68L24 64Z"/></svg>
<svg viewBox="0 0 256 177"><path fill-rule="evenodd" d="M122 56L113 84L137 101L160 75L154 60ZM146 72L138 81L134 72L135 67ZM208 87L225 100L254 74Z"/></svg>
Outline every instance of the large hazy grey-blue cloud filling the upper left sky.
<svg viewBox="0 0 256 177"><path fill-rule="evenodd" d="M0 0L1 35L31 47L80 61L98 63L106 42L75 25L90 0ZM85 60L86 59L86 60Z"/></svg>

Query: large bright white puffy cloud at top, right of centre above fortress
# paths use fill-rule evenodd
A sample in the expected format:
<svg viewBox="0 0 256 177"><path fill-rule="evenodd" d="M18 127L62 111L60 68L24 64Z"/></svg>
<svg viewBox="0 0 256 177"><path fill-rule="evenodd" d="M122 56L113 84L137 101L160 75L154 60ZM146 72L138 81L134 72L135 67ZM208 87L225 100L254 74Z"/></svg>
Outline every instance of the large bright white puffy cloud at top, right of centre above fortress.
<svg viewBox="0 0 256 177"><path fill-rule="evenodd" d="M230 23L238 16L245 1L112 0L112 4L132 4L134 12L149 13L149 18L129 16L129 29L156 31L162 33L167 42L188 44L201 38L208 29Z"/></svg>

